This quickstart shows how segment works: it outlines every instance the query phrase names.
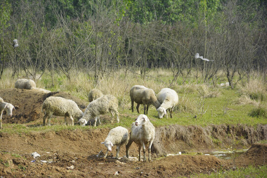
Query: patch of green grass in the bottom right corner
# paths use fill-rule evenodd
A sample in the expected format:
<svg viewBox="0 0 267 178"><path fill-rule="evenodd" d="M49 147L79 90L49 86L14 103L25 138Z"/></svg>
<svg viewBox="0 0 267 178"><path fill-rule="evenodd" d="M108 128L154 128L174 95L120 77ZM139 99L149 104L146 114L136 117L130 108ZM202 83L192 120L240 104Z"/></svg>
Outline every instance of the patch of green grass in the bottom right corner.
<svg viewBox="0 0 267 178"><path fill-rule="evenodd" d="M199 174L191 178L266 178L267 166L248 166L246 168L236 168L236 170L219 171L218 173Z"/></svg>

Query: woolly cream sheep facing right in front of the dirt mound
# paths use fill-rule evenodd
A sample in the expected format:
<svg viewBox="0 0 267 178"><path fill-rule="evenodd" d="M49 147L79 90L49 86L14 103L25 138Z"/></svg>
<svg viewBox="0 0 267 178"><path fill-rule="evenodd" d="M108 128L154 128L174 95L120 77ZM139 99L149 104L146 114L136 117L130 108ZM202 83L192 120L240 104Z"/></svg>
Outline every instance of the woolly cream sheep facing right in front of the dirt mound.
<svg viewBox="0 0 267 178"><path fill-rule="evenodd" d="M80 119L83 116L83 111L79 109L78 105L71 99L65 99L59 96L49 96L43 102L42 110L45 113L43 118L44 126L47 119L50 126L51 116L64 116L65 124L67 123L67 117L70 117L72 126L74 125L74 119ZM47 124L47 123L46 123Z"/></svg>

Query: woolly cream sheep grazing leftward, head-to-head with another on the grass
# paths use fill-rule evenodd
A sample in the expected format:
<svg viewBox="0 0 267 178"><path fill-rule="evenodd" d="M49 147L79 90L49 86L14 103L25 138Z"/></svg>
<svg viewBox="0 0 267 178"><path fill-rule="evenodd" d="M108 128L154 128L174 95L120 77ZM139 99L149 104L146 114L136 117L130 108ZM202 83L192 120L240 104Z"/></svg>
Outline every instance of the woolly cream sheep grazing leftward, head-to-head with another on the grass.
<svg viewBox="0 0 267 178"><path fill-rule="evenodd" d="M80 123L81 126L85 126L90 119L94 118L95 119L94 127L95 127L97 118L100 124L99 116L101 114L106 114L108 112L110 112L112 115L111 122L113 122L114 113L116 113L117 122L119 123L120 119L119 119L119 112L117 110L118 107L119 107L118 99L115 96L110 94L103 95L102 97L97 98L89 103L83 117L78 121L78 123Z"/></svg>

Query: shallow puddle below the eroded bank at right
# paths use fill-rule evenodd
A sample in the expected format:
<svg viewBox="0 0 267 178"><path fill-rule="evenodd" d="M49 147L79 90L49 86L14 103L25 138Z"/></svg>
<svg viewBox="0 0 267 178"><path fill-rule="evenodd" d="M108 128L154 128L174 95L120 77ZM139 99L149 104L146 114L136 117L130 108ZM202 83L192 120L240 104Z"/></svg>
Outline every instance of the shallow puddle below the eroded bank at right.
<svg viewBox="0 0 267 178"><path fill-rule="evenodd" d="M240 154L246 152L248 149L242 149L242 150L226 150L226 151L213 151L211 153L205 153L205 155L213 155L216 156L217 158L221 159L231 159L234 157L239 156Z"/></svg>

